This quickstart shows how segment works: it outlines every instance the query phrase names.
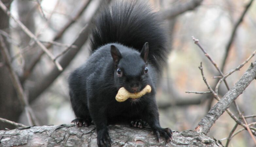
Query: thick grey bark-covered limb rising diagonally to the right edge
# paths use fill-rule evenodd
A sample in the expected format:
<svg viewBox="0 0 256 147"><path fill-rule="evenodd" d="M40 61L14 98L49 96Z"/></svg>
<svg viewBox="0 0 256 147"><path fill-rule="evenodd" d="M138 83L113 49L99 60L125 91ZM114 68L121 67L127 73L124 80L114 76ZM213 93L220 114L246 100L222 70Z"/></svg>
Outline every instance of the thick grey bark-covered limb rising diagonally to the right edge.
<svg viewBox="0 0 256 147"><path fill-rule="evenodd" d="M251 63L249 69L239 79L223 98L213 106L206 116L198 123L196 129L198 132L208 133L213 123L230 107L231 103L243 93L246 87L256 78L256 61Z"/></svg>

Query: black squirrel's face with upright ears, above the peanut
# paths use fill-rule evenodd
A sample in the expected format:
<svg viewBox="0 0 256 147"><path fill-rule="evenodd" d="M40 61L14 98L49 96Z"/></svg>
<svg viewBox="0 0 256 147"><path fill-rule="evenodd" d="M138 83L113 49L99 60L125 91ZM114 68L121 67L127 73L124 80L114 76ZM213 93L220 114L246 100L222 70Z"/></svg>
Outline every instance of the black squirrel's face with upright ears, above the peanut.
<svg viewBox="0 0 256 147"><path fill-rule="evenodd" d="M146 56L148 45L145 43L141 53L129 50L123 55L111 45L111 55L114 60L114 79L117 89L124 87L130 93L140 92L148 83L150 69L147 67Z"/></svg>

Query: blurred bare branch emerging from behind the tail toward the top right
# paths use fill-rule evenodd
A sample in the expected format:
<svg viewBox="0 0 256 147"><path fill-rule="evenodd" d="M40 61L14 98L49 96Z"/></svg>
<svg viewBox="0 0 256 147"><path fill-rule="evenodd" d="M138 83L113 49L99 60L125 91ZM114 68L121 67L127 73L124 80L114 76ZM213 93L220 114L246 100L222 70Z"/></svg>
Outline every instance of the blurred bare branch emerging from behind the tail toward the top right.
<svg viewBox="0 0 256 147"><path fill-rule="evenodd" d="M191 0L183 4L175 5L171 8L168 8L164 11L162 11L162 17L165 19L171 19L174 17L177 17L178 15L188 11L188 10L194 10L196 7L198 7L203 0Z"/></svg>

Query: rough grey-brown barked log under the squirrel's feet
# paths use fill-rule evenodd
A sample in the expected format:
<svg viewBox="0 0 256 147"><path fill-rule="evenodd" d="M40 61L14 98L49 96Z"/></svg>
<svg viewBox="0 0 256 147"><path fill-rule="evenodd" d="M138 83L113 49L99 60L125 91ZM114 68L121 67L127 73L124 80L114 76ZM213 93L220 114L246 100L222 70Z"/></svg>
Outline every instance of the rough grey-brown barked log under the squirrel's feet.
<svg viewBox="0 0 256 147"><path fill-rule="evenodd" d="M109 126L112 146L219 147L217 140L193 131L173 132L173 141L157 142L150 129ZM73 124L33 126L0 131L2 146L97 146L95 126L77 128Z"/></svg>

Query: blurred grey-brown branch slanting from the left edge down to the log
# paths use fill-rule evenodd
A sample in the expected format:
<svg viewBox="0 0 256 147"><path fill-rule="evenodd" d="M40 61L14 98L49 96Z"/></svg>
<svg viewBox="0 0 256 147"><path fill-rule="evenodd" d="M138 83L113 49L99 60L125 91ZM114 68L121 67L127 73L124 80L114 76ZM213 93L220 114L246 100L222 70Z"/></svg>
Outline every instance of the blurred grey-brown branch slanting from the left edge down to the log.
<svg viewBox="0 0 256 147"><path fill-rule="evenodd" d="M11 77L13 86L14 86L16 92L17 92L18 98L19 98L22 106L25 108L25 110L29 111L28 120L30 122L32 122L33 125L38 125L37 120L34 117L34 113L30 109L30 106L28 105L28 99L27 99L27 97L26 97L26 95L24 93L24 90L23 90L23 88L21 86L19 78L18 78L17 74L14 72L14 70L13 70L13 68L11 66L11 62L10 62L11 58L10 58L10 55L8 53L8 49L7 49L7 47L6 47L5 43L4 43L4 39L3 39L2 35L0 35L0 46L1 46L2 56L3 56L4 60L5 60L7 68L9 70L10 77Z"/></svg>

